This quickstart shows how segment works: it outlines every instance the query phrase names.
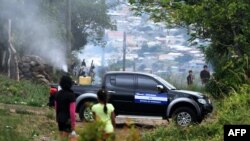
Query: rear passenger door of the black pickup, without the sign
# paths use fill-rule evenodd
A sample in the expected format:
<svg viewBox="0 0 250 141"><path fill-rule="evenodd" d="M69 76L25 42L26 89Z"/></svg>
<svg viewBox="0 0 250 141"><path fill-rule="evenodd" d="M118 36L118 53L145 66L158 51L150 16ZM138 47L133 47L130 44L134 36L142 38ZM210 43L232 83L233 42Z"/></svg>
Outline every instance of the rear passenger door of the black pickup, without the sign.
<svg viewBox="0 0 250 141"><path fill-rule="evenodd" d="M133 114L135 78L133 74L113 74L106 77L106 90L109 102L115 107L116 113Z"/></svg>

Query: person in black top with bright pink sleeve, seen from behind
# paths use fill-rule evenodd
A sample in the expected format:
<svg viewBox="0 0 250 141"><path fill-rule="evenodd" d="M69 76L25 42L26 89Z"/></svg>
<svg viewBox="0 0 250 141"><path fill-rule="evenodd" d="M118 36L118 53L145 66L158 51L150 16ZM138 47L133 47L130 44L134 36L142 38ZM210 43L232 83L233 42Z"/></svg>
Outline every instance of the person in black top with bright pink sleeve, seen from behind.
<svg viewBox="0 0 250 141"><path fill-rule="evenodd" d="M56 121L60 137L65 139L70 133L75 134L75 95L71 90L73 81L69 76L62 76L59 85L61 90L55 95Z"/></svg>

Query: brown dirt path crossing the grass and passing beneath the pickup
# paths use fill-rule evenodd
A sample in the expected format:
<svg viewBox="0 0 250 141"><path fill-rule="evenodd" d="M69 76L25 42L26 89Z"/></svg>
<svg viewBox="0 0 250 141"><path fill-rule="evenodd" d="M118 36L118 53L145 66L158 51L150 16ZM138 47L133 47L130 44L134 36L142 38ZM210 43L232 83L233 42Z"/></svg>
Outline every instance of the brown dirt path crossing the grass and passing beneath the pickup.
<svg viewBox="0 0 250 141"><path fill-rule="evenodd" d="M32 113L35 115L47 116L48 113L53 114L53 109L48 107L32 107L27 105L13 105L13 104L3 104L0 103L0 109L7 109L11 113ZM78 117L78 116L77 116ZM53 118L53 117L52 117ZM80 122L77 119L77 126L80 128L84 128L86 126L85 122ZM164 125L167 126L168 122L166 120L162 120L161 118L156 117L140 117L140 116L118 116L116 117L116 138L121 140L126 140L126 137L131 135L131 128L134 127L136 130L136 134L140 134L145 131L150 131L154 129L156 126ZM132 126L131 126L132 125ZM56 123L55 123L56 126ZM39 141L50 141L51 135L41 135L39 137Z"/></svg>

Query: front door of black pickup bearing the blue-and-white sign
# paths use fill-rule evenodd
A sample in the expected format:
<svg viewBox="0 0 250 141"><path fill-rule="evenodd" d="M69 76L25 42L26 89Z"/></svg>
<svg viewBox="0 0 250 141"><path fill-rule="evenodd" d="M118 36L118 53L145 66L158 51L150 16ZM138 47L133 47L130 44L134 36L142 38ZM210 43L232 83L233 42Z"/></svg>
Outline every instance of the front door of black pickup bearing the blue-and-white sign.
<svg viewBox="0 0 250 141"><path fill-rule="evenodd" d="M162 116L168 105L167 93L159 93L160 83L153 77L137 75L134 103L138 113L143 115Z"/></svg>

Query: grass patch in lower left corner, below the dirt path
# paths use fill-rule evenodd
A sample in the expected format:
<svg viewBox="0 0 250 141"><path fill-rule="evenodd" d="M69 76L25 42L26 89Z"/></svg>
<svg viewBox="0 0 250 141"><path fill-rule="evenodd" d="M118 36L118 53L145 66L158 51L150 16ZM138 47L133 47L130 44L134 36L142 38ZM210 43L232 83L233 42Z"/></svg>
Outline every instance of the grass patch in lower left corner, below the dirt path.
<svg viewBox="0 0 250 141"><path fill-rule="evenodd" d="M29 107L29 110L30 108L32 109ZM56 137L54 135L57 131L55 120L50 119L46 114L10 109L0 109L1 141L38 141L44 137Z"/></svg>

